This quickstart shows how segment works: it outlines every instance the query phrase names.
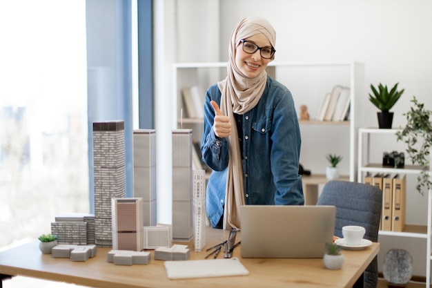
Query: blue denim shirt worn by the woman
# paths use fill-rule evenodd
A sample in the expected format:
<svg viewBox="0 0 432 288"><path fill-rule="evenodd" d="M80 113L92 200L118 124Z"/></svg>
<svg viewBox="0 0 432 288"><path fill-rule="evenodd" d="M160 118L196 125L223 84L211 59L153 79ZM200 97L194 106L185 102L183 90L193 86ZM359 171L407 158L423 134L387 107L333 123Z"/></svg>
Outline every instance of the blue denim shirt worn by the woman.
<svg viewBox="0 0 432 288"><path fill-rule="evenodd" d="M217 84L206 92L204 104L203 161L213 169L207 185L206 210L213 227L224 213L228 142L215 136L214 100L220 106ZM258 104L242 115L242 166L244 200L255 205L302 205L304 196L299 171L300 128L291 92L267 77ZM235 125L233 123L232 125Z"/></svg>

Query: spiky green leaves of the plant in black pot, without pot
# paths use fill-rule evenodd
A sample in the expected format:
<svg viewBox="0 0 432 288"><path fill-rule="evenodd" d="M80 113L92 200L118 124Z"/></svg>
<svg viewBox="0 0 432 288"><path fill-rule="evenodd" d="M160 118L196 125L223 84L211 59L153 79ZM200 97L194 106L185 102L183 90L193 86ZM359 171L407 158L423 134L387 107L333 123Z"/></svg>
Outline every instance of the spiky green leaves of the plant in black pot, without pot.
<svg viewBox="0 0 432 288"><path fill-rule="evenodd" d="M373 84L371 84L373 95L369 93L369 101L371 101L373 105L380 109L380 111L389 112L405 90L402 89L397 91L398 84L399 83L396 83L395 86L391 88L390 92L387 86L384 86L381 83L378 85L378 90L373 86Z"/></svg>

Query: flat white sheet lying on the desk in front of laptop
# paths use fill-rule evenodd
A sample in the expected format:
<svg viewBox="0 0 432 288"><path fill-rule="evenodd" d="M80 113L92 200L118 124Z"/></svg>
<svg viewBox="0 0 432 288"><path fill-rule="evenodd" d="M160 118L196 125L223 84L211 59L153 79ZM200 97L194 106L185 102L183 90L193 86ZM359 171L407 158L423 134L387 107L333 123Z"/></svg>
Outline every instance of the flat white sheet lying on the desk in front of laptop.
<svg viewBox="0 0 432 288"><path fill-rule="evenodd" d="M169 279L205 278L222 276L248 275L238 258L166 261L166 273Z"/></svg>

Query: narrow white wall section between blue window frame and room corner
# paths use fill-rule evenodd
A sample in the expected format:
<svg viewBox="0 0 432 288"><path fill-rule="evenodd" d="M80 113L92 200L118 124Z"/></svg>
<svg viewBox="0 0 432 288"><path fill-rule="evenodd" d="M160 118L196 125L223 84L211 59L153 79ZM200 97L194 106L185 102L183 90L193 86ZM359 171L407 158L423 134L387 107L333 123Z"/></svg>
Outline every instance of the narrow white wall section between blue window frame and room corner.
<svg viewBox="0 0 432 288"><path fill-rule="evenodd" d="M154 1L154 5L157 219L159 223L170 224L171 130L177 124L177 119L173 119L171 115L173 64L186 61L218 61L219 2L163 0ZM211 12L208 14L204 11ZM214 38L214 43L210 41L211 38Z"/></svg>

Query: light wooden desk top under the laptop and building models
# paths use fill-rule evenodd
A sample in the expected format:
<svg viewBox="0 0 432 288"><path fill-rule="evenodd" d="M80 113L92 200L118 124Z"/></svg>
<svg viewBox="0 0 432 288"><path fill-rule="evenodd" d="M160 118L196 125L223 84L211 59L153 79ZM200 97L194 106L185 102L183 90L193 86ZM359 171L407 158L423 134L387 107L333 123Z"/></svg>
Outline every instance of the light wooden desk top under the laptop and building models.
<svg viewBox="0 0 432 288"><path fill-rule="evenodd" d="M240 239L237 233L236 241ZM228 231L208 229L206 247L228 238ZM190 260L202 260L207 251L194 252L189 243ZM240 258L242 245L233 256ZM380 244L358 251L344 250L345 262L340 270L328 270L318 259L240 258L248 269L248 276L168 280L164 261L154 260L149 265L121 266L107 262L111 249L98 248L97 256L86 262L72 262L67 258L52 258L42 254L38 241L23 244L0 253L0 274L29 276L46 280L70 282L101 288L169 288L169 287L351 287L380 250ZM219 258L223 253L219 254ZM208 258L212 261L213 258Z"/></svg>

